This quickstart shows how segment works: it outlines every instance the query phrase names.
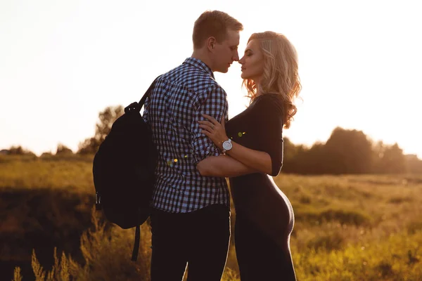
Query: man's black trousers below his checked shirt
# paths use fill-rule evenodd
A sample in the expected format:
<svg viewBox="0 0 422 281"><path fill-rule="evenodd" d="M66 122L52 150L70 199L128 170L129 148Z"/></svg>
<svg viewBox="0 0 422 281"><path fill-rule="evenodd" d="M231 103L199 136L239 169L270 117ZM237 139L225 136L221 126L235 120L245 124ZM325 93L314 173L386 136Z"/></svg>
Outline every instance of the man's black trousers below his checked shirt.
<svg viewBox="0 0 422 281"><path fill-rule="evenodd" d="M214 204L191 213L151 215L151 281L219 281L230 238L230 209Z"/></svg>

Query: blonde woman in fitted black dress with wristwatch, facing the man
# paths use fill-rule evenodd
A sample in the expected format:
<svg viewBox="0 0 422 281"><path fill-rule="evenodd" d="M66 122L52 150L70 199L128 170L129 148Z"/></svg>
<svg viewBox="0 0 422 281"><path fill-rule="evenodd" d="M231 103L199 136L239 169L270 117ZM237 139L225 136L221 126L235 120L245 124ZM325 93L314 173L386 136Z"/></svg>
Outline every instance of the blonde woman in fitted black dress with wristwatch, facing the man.
<svg viewBox="0 0 422 281"><path fill-rule="evenodd" d="M282 131L293 120L301 90L297 55L282 34L262 32L252 34L239 63L250 105L227 124L204 115L200 128L225 156L208 157L197 167L206 176L230 177L241 280L296 280L293 208L271 176L281 170Z"/></svg>

